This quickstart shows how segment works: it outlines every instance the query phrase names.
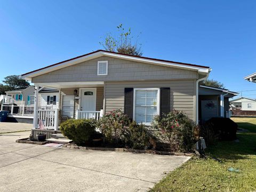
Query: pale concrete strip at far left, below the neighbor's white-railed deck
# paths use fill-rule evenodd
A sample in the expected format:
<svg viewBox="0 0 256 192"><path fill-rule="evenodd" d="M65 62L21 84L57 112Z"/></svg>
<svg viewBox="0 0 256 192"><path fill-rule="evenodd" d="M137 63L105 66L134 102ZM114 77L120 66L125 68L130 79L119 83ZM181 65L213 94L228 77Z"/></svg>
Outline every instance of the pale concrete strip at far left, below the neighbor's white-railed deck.
<svg viewBox="0 0 256 192"><path fill-rule="evenodd" d="M0 133L14 132L14 131L30 131L33 124L28 123L7 123L0 122Z"/></svg>

